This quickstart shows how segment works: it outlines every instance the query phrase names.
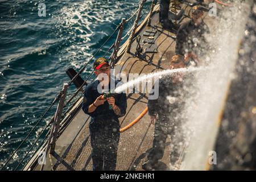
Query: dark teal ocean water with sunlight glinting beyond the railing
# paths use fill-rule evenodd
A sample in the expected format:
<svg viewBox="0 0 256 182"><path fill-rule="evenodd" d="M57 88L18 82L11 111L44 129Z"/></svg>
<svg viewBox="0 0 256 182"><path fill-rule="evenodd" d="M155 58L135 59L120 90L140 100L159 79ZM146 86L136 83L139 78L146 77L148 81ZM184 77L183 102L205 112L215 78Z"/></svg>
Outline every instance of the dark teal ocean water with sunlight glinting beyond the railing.
<svg viewBox="0 0 256 182"><path fill-rule="evenodd" d="M45 17L38 15L41 2L46 5ZM137 10L138 3L139 0L0 0L0 168L51 105L63 83L69 81L65 70L73 67L79 71L122 18L129 18ZM149 9L147 2L142 14L145 16ZM133 26L134 18L126 24L125 33ZM116 35L96 57L105 55ZM91 71L89 64L81 76L85 78ZM74 91L72 85L68 97ZM15 169L55 109L56 105L5 169ZM32 152L28 158L31 155Z"/></svg>

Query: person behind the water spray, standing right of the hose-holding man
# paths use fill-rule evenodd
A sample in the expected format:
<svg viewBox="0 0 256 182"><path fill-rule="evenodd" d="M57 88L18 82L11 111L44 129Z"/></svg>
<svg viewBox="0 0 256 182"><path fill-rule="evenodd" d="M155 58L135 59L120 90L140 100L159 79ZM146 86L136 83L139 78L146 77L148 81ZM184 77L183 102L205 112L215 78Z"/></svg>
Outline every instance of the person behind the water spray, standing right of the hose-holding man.
<svg viewBox="0 0 256 182"><path fill-rule="evenodd" d="M175 55L171 60L171 69L185 68L184 59ZM157 170L160 167L159 160L163 158L166 139L171 135L171 155L170 162L172 166L180 158L183 150L183 134L180 130L183 121L184 98L187 96L187 89L184 88L184 80L187 82L187 76L184 73L174 73L170 76L164 76L156 82L150 95L159 92L158 98L150 100L148 97L148 114L151 123L155 123L154 140L151 151L147 156L147 161L143 163L145 170ZM156 89L158 86L159 89ZM154 90L154 91L153 91ZM158 118L157 118L158 117Z"/></svg>

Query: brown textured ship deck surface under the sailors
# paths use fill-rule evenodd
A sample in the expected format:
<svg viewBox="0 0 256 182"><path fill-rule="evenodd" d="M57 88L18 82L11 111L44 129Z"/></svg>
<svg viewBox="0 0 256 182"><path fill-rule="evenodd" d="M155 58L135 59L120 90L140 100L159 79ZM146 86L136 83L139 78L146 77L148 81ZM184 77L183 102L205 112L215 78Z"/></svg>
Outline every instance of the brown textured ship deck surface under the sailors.
<svg viewBox="0 0 256 182"><path fill-rule="evenodd" d="M155 10L159 5L155 6ZM188 15L190 7L185 10ZM188 20L183 19L182 22ZM210 28L213 28L214 22L217 21L205 13L205 22ZM215 22L216 23L216 22ZM144 26L139 32L142 40L145 38L143 33L149 27ZM159 14L152 16L151 28L156 30L155 44L156 53L147 53L146 59L141 60L134 56L136 41L131 46L131 54L124 53L118 61L117 70L119 72L129 73L151 73L168 69L171 57L175 52L175 31L170 32L163 30L159 24ZM147 96L145 94L127 94L127 110L125 117L119 118L121 127L134 121L147 106ZM55 154L47 155L47 162L44 170L92 170L91 147L89 136L89 119L88 115L82 110L77 113L76 117L69 124L64 133L61 134L56 142ZM121 134L117 155L117 170L141 170L142 163L146 160L147 152L152 147L154 126L150 125L148 114L131 129ZM163 169L170 169L170 138L166 141L166 151L161 160ZM40 169L40 165L36 170Z"/></svg>

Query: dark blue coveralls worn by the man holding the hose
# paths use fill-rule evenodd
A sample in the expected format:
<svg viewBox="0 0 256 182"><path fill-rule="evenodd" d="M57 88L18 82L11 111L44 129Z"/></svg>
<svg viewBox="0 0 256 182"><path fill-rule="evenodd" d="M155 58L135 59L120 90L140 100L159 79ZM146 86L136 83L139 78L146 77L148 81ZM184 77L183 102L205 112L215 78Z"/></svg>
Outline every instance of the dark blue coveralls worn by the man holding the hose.
<svg viewBox="0 0 256 182"><path fill-rule="evenodd" d="M113 79L113 78L111 78ZM118 81L113 80L115 85ZM119 142L119 117L126 114L126 94L115 94L115 105L121 110L121 115L116 115L109 109L108 101L98 106L93 113L88 113L88 108L101 94L97 87L100 81L96 80L85 88L82 110L91 117L89 123L90 143L92 146L93 171L113 171L117 162L117 149ZM110 84L109 84L109 89Z"/></svg>

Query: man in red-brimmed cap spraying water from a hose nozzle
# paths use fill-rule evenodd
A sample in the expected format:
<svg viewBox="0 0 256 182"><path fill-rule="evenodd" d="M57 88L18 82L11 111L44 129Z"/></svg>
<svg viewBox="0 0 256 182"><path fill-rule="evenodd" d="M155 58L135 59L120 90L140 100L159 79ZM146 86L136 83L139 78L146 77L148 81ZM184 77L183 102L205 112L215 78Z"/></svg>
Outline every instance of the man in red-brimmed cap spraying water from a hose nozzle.
<svg viewBox="0 0 256 182"><path fill-rule="evenodd" d="M118 81L110 77L110 65L103 57L94 61L93 68L98 79L86 86L82 110L91 117L89 130L93 170L110 171L115 170L117 162L120 136L118 118L126 114L126 94L104 97L102 92L114 90ZM105 77L102 77L101 73L105 73Z"/></svg>

